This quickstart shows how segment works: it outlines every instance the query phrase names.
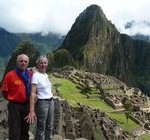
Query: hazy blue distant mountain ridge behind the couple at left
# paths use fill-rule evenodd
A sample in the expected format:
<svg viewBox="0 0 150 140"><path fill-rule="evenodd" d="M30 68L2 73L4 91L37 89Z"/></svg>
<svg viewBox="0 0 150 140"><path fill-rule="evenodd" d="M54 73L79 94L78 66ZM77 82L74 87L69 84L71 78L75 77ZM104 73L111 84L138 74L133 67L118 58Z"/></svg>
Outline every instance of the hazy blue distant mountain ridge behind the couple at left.
<svg viewBox="0 0 150 140"><path fill-rule="evenodd" d="M2 73L4 72L14 49L22 41L29 40L33 42L34 47L41 55L45 55L60 47L63 39L64 36L59 34L49 33L47 35L42 35L42 33L10 33L5 29L0 28L0 77L2 77Z"/></svg>

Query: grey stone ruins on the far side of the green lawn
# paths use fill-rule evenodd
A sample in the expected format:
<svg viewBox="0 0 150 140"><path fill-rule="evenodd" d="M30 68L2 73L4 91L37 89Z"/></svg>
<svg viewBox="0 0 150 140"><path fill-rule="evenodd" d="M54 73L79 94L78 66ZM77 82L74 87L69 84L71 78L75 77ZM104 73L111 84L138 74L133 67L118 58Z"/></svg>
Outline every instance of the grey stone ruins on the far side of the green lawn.
<svg viewBox="0 0 150 140"><path fill-rule="evenodd" d="M62 73L59 74L61 75ZM104 100L116 111L125 110L122 101L129 100L133 105L134 112L129 112L128 116L143 127L143 130L141 129L140 133L137 134L142 135L143 131L147 132L149 130L150 123L149 119L147 119L147 115L145 116L145 114L150 113L150 97L143 94L139 89L128 87L125 83L119 81L114 77L102 75L99 73L74 70L70 73L67 72L67 74L65 74L64 71L63 78L67 78L74 82L76 84L76 87L80 90L82 90L82 88L84 87L85 81L88 81L91 89L96 90L97 97L99 97L99 95L102 95L102 98L99 99ZM97 97L95 96L95 98ZM93 98L93 96L89 95L88 98ZM145 113L144 115L140 116L138 115L138 112ZM138 118L138 116L140 118ZM142 120L142 118L144 119Z"/></svg>

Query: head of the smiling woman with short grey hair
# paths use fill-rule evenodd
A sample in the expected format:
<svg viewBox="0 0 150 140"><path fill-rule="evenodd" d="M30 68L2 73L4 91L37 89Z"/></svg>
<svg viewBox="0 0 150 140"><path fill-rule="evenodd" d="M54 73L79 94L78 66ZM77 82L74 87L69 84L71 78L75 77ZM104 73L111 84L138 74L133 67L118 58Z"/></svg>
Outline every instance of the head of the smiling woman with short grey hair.
<svg viewBox="0 0 150 140"><path fill-rule="evenodd" d="M37 63L38 71L45 73L48 65L48 60L46 58L41 58Z"/></svg>

